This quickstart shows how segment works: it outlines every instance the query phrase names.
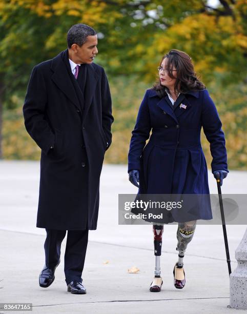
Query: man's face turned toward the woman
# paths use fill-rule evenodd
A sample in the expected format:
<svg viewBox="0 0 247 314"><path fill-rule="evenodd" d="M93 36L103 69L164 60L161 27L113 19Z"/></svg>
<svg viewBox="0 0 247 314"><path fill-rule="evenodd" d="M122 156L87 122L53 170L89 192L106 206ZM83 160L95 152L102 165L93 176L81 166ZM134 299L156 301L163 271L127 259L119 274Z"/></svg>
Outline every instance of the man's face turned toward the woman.
<svg viewBox="0 0 247 314"><path fill-rule="evenodd" d="M84 43L81 47L76 44L72 45L72 49L74 51L75 63L87 63L90 64L93 62L94 57L98 53L97 49L97 35L88 36L86 43Z"/></svg>

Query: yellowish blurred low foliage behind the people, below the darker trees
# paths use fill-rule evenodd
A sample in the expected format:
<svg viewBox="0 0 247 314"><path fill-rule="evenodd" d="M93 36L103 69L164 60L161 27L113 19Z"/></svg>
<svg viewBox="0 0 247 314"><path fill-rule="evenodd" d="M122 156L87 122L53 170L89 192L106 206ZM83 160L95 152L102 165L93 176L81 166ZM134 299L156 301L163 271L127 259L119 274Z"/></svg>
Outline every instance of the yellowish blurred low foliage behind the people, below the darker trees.
<svg viewBox="0 0 247 314"><path fill-rule="evenodd" d="M113 99L113 116L115 121L112 126L113 139L110 149L105 155L105 163L127 163L131 132L134 128L138 108L145 93L150 87L142 81L131 78L110 81ZM225 133L230 169L247 169L246 123L247 96L233 90L219 90L211 94L220 114L222 128ZM222 93L222 94L221 94ZM247 93L246 93L247 94ZM18 103L21 101L18 100ZM240 107L239 107L240 106ZM234 109L236 107L236 110ZM239 108L238 108L239 107ZM212 156L210 145L201 132L201 141L207 163L210 165ZM3 151L5 159L35 159L40 158L40 149L27 133L22 108L6 111L3 128Z"/></svg>

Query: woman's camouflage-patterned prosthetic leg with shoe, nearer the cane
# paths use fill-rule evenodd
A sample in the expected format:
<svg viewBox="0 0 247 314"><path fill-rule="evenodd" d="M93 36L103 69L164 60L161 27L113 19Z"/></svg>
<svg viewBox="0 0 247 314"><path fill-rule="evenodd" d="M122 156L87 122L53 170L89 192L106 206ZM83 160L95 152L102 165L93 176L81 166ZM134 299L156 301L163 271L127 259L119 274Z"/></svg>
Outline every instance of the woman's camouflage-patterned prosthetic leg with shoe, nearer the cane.
<svg viewBox="0 0 247 314"><path fill-rule="evenodd" d="M186 284L185 273L183 269L183 257L187 245L191 242L196 228L196 220L179 223L177 228L177 248L178 261L173 269L174 286L182 289Z"/></svg>

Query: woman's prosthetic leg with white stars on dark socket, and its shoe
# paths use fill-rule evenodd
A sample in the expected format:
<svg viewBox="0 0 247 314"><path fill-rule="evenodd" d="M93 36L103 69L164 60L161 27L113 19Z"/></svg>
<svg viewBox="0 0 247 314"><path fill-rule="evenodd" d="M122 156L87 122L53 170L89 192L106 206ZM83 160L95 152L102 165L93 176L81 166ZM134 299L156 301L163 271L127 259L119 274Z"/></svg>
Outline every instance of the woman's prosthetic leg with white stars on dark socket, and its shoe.
<svg viewBox="0 0 247 314"><path fill-rule="evenodd" d="M155 268L154 268L154 280L151 283L150 291L159 292L162 286L162 278L160 276L160 256L161 256L161 246L162 246L162 233L163 225L153 225L154 233L154 255L155 255Z"/></svg>

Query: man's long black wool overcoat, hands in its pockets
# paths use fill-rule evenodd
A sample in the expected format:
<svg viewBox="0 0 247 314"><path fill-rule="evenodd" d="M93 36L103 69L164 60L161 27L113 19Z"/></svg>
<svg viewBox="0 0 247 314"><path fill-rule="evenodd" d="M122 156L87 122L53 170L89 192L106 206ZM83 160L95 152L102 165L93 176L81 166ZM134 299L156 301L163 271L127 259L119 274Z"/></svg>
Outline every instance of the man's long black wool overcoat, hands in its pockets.
<svg viewBox="0 0 247 314"><path fill-rule="evenodd" d="M68 65L66 49L35 66L23 107L26 129L41 148L37 227L94 230L112 138L111 95L102 67L84 65L83 93Z"/></svg>

